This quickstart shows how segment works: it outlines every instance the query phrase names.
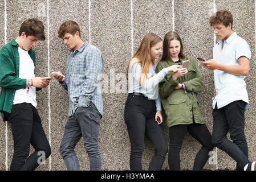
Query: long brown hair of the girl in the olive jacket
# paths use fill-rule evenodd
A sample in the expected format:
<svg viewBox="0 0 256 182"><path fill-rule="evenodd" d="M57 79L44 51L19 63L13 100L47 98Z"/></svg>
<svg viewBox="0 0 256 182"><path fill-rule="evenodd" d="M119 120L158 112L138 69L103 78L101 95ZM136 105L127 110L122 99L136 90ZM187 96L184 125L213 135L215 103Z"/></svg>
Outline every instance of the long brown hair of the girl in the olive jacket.
<svg viewBox="0 0 256 182"><path fill-rule="evenodd" d="M185 55L183 53L184 48L183 48L183 44L182 44L180 36L176 32L170 31L167 34L165 34L165 36L164 36L161 61L167 60L170 57L169 45L172 40L178 40L180 42L180 53L178 53L178 56L181 57L182 59L185 58Z"/></svg>

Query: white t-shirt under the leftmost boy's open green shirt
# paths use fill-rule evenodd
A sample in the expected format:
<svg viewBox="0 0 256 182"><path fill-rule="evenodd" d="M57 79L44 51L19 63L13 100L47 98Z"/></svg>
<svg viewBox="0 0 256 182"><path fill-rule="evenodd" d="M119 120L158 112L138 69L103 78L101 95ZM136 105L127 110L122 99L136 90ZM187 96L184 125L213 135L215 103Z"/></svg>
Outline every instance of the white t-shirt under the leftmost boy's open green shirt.
<svg viewBox="0 0 256 182"><path fill-rule="evenodd" d="M19 51L19 78L32 79L35 78L35 65L31 59L29 52L21 48ZM31 85L31 83L30 83ZM28 87L25 89L16 90L13 104L21 104L23 102L30 103L32 106L36 107L36 94L35 87L30 86L29 93L27 93Z"/></svg>

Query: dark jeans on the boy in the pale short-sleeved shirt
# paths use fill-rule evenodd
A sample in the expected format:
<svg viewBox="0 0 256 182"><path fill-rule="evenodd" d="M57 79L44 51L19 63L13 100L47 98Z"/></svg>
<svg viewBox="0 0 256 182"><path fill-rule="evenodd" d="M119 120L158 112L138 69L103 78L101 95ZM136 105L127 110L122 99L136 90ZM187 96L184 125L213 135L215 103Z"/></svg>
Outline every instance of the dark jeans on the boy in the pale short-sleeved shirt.
<svg viewBox="0 0 256 182"><path fill-rule="evenodd" d="M249 163L248 146L245 138L245 102L242 100L217 109L213 109L213 137L214 146L225 151L237 162L237 170ZM231 142L227 139L229 132Z"/></svg>

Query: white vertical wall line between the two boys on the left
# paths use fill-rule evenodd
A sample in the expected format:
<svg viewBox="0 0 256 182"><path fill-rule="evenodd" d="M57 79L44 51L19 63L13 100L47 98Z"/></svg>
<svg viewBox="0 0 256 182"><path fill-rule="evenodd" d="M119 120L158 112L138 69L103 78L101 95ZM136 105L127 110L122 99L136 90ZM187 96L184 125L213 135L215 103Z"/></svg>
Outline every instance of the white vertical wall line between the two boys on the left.
<svg viewBox="0 0 256 182"><path fill-rule="evenodd" d="M50 27L49 27L49 0L47 0L47 53L48 53L48 76L50 76ZM51 104L50 104L50 85L48 86L48 130L49 143L51 146ZM51 155L49 156L49 171L51 171Z"/></svg>

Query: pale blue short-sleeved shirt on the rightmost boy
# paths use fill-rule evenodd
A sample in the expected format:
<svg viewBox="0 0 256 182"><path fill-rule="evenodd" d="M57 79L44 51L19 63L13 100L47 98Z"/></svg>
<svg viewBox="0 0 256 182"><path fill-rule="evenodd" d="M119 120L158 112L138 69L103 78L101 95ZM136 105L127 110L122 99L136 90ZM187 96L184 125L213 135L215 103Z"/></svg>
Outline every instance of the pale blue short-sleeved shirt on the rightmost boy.
<svg viewBox="0 0 256 182"><path fill-rule="evenodd" d="M233 32L227 40L220 40L213 48L213 59L224 65L239 65L238 58L241 56L251 59L250 47L246 40L242 39ZM230 73L214 70L214 84L216 96L213 100L213 109L216 102L218 109L230 104L231 102L243 100L247 104L245 110L249 106L249 98L246 90L245 76L232 75Z"/></svg>

